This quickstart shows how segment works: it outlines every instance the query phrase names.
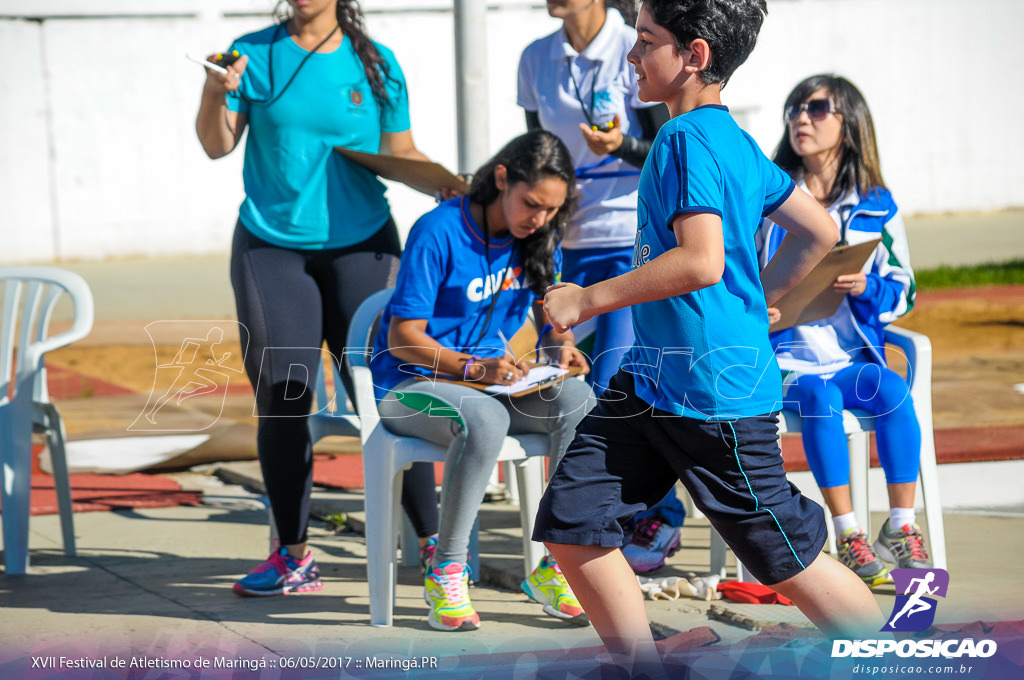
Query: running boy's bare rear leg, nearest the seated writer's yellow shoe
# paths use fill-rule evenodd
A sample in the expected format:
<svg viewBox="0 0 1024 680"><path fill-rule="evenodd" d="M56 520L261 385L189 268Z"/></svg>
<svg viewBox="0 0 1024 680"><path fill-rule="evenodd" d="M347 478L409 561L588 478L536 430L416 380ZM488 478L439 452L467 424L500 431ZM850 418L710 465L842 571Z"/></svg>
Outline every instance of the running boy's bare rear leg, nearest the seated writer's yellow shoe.
<svg viewBox="0 0 1024 680"><path fill-rule="evenodd" d="M636 575L617 548L545 544L612 655L658 665ZM859 579L858 579L859 581Z"/></svg>

